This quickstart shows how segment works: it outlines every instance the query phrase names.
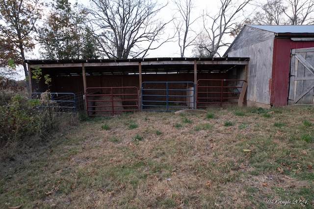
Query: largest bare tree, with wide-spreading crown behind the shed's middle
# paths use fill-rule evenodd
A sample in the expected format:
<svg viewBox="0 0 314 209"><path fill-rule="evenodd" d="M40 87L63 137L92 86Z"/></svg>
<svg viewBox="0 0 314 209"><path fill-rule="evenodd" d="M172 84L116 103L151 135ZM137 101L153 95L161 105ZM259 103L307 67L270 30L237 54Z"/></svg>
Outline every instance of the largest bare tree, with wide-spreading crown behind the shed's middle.
<svg viewBox="0 0 314 209"><path fill-rule="evenodd" d="M91 0L99 50L108 58L144 57L169 41L160 35L168 23L157 19L164 6L152 0Z"/></svg>

